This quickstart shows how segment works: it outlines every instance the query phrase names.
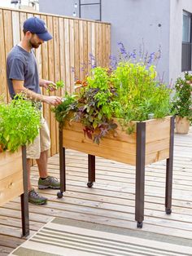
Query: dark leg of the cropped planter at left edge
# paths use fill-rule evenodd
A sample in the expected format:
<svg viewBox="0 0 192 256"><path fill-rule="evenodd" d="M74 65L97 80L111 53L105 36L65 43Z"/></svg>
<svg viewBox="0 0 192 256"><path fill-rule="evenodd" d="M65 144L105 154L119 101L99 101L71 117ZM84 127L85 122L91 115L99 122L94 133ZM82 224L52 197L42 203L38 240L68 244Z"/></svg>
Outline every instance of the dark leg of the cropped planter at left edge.
<svg viewBox="0 0 192 256"><path fill-rule="evenodd" d="M21 202L21 218L22 218L22 234L29 235L29 217L28 217L28 171L26 159L26 147L22 147L22 161L23 161L23 182L24 193L20 195Z"/></svg>

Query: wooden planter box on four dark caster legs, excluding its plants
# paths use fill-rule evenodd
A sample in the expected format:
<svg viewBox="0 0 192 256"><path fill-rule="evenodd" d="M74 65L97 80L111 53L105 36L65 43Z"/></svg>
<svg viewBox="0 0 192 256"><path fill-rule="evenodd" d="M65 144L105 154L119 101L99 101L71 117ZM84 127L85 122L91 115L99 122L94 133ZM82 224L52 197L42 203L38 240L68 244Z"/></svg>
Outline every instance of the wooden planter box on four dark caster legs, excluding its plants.
<svg viewBox="0 0 192 256"><path fill-rule="evenodd" d="M136 205L135 219L137 227L142 227L144 219L144 183L145 166L167 159L165 209L171 214L172 203L172 157L174 118L151 119L136 122L136 131L127 135L120 124L116 136L107 135L99 145L85 138L83 126L78 122L66 122L59 135L61 192L65 191L65 148L71 148L88 154L88 187L95 181L95 156L120 161L136 166Z"/></svg>

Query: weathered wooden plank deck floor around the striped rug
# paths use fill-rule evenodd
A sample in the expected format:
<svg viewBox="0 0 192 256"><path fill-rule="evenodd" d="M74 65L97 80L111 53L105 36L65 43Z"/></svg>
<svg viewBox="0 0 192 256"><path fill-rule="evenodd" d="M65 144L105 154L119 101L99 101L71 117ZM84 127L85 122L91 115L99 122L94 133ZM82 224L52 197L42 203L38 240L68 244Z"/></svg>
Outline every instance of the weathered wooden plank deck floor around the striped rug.
<svg viewBox="0 0 192 256"><path fill-rule="evenodd" d="M29 205L30 236L51 218L72 218L137 232L172 235L192 241L192 130L175 135L172 214L164 213L165 161L146 166L145 220L137 230L134 221L135 169L96 158L96 183L87 188L87 156L67 150L67 192L58 199L55 190L44 190L47 205ZM49 171L59 178L59 155L50 157ZM32 171L37 186L37 166ZM0 255L24 242L21 236L20 197L0 208Z"/></svg>

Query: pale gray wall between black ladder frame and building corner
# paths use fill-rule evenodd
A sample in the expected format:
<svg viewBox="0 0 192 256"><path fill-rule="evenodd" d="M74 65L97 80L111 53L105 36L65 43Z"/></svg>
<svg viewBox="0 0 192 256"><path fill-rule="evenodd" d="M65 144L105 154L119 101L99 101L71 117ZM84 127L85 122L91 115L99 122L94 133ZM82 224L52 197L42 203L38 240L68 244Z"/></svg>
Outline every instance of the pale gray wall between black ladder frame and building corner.
<svg viewBox="0 0 192 256"><path fill-rule="evenodd" d="M169 0L103 0L103 19L111 22L111 51L117 42L128 51L142 46L142 51L156 52L161 47L157 64L160 77L168 82Z"/></svg>

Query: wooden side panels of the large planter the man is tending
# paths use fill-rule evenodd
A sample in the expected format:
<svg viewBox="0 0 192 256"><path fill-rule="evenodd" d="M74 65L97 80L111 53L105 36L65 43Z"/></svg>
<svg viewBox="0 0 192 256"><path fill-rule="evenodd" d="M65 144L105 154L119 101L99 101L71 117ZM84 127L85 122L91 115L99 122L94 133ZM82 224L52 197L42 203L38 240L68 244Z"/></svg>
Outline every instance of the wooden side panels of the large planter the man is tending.
<svg viewBox="0 0 192 256"><path fill-rule="evenodd" d="M146 164L169 157L170 118L144 121L146 122ZM121 130L120 124L116 131L115 136L108 135L97 145L85 137L81 123L66 122L63 128L63 147L136 166L137 133L127 135Z"/></svg>

